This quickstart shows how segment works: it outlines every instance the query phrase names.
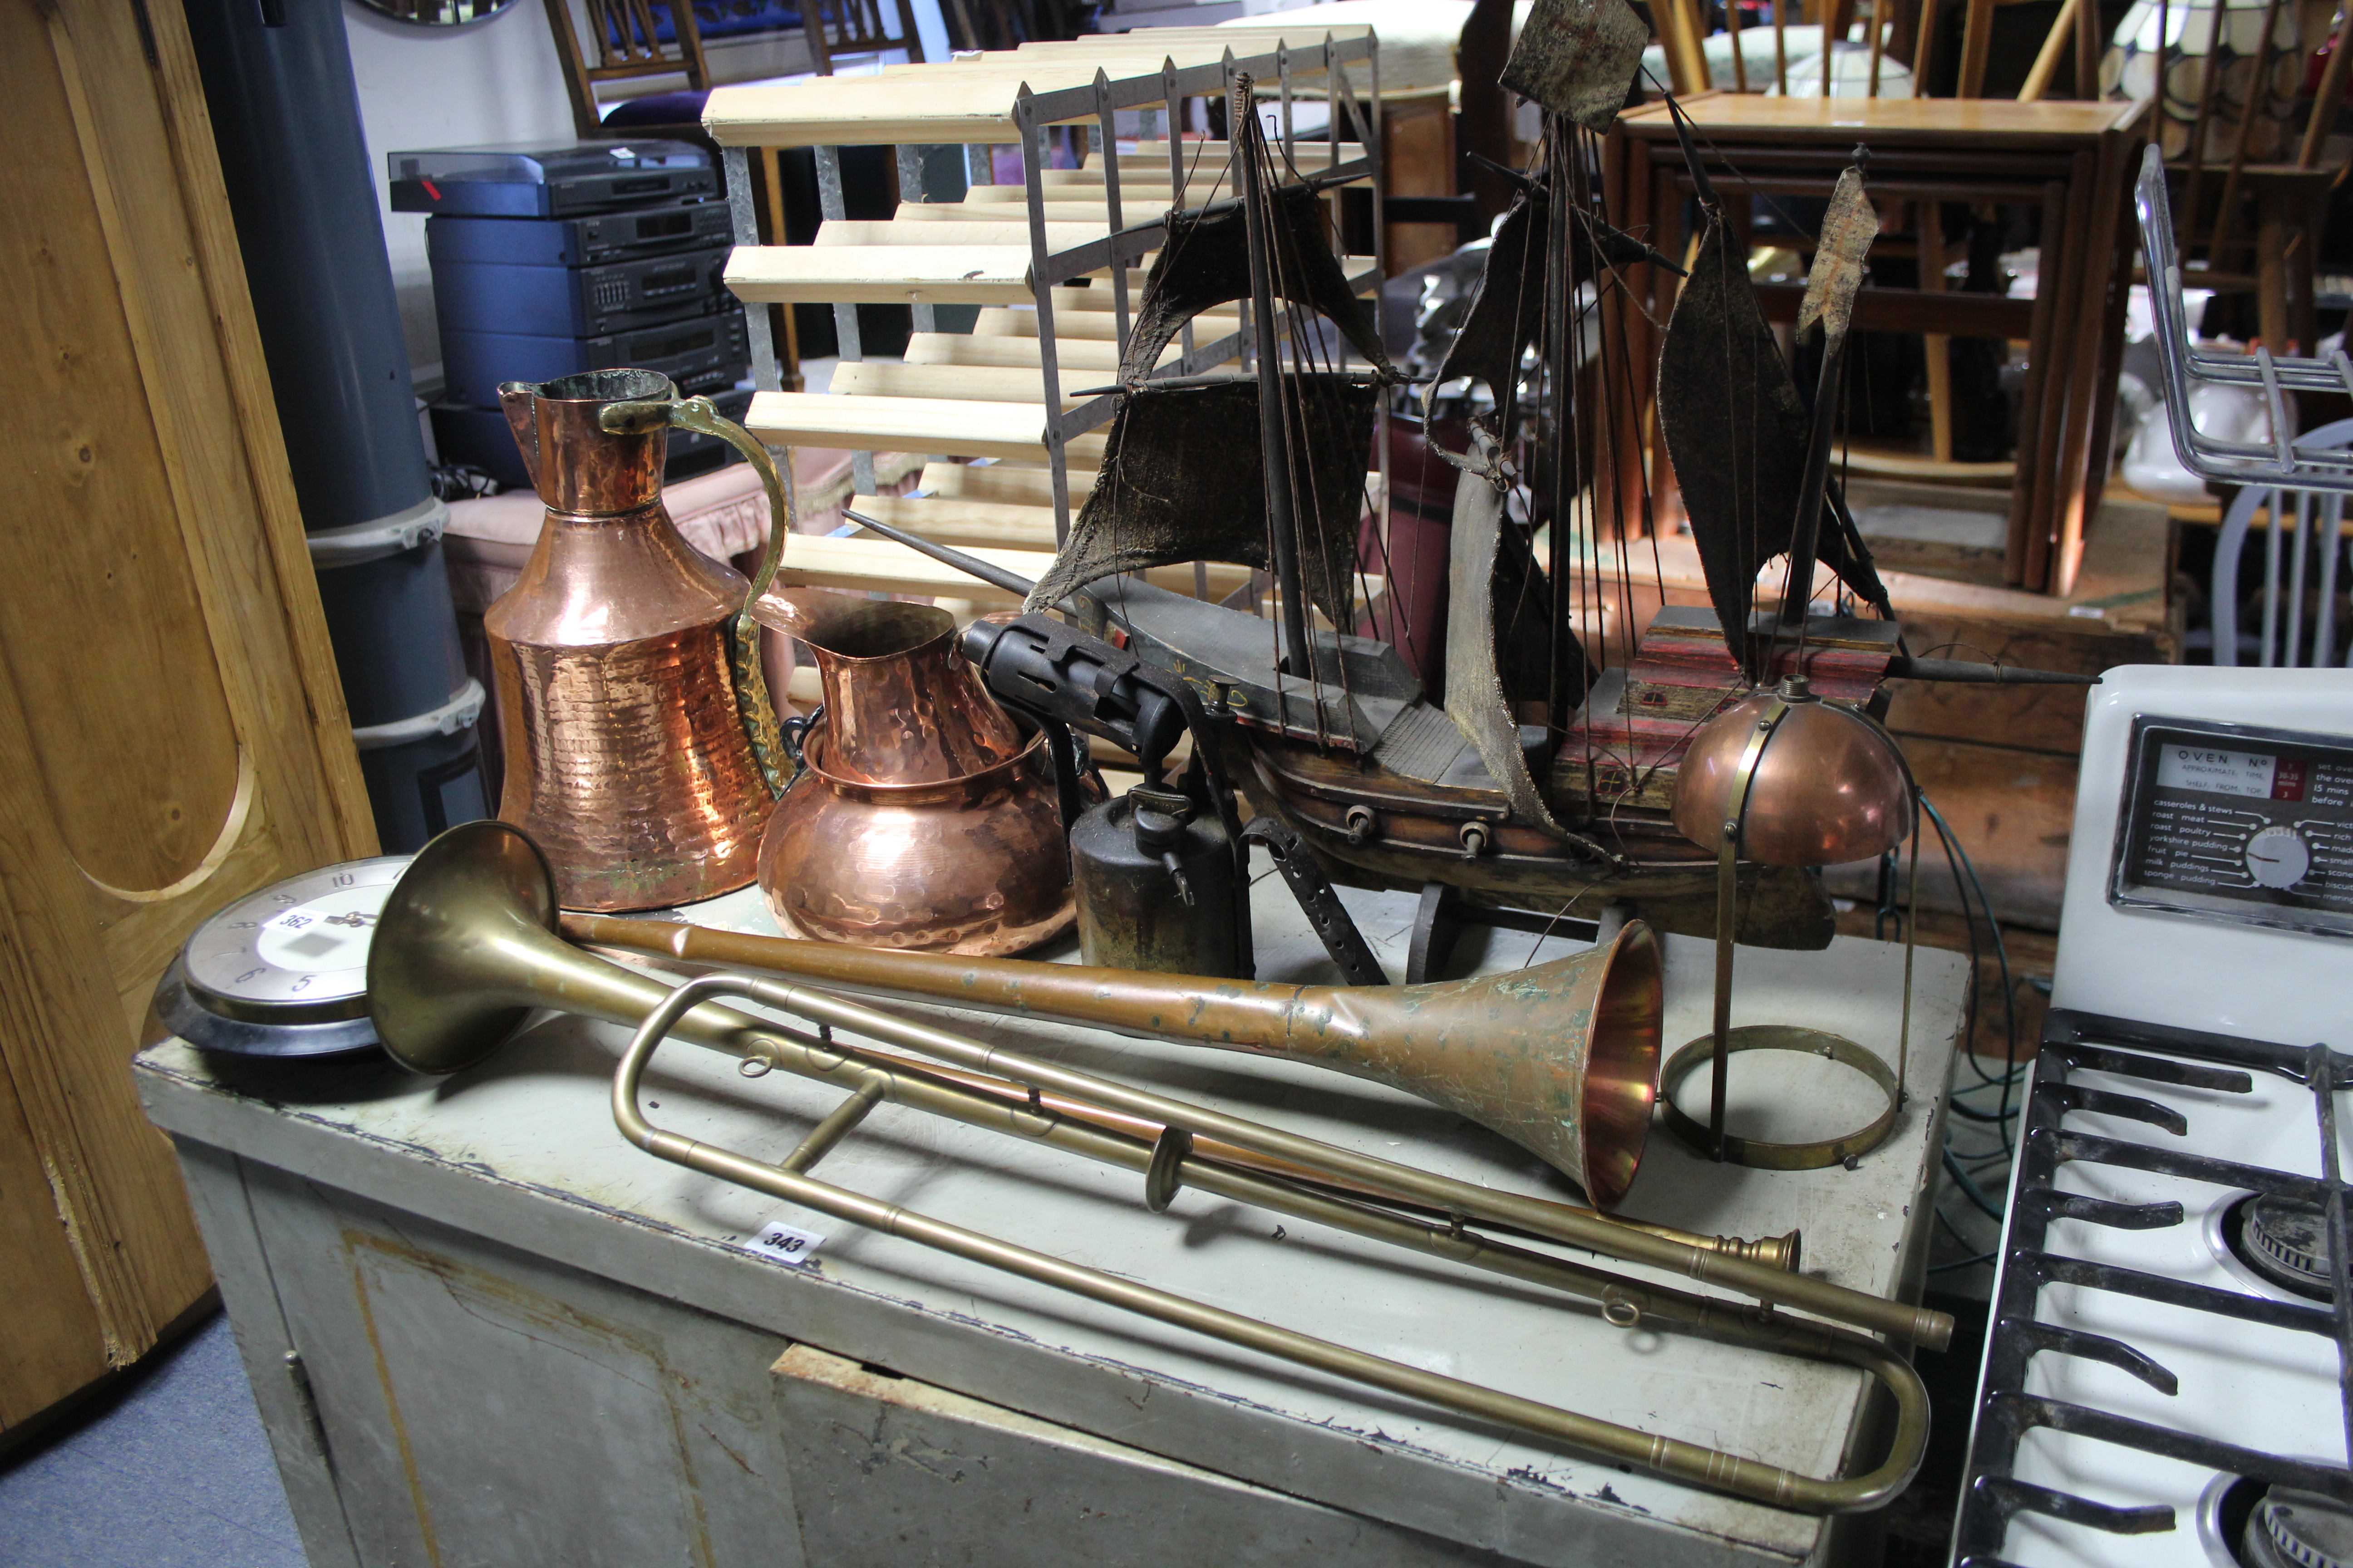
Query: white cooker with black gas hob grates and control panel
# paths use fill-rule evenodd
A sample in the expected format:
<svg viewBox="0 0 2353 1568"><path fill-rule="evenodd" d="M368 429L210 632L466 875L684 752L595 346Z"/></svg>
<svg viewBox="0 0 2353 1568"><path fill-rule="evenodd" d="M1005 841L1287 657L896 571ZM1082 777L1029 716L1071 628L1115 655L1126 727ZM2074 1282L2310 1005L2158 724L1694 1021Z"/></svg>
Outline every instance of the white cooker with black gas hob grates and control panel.
<svg viewBox="0 0 2353 1568"><path fill-rule="evenodd" d="M2353 672L2092 691L1958 1563L2353 1566Z"/></svg>

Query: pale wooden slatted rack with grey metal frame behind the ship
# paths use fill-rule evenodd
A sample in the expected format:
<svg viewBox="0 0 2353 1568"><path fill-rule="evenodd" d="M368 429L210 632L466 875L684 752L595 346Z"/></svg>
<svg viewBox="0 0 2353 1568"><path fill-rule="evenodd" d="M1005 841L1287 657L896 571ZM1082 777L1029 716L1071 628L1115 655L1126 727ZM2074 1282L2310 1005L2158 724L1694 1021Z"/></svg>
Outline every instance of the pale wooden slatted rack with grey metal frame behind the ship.
<svg viewBox="0 0 2353 1568"><path fill-rule="evenodd" d="M1040 42L861 78L715 89L704 127L720 143L734 216L727 287L748 306L833 306L842 355L828 393L781 390L767 310L751 310L758 393L746 425L776 449L849 449L854 510L1040 576L1071 531L1073 505L1094 487L1104 425L1118 411L1111 395L1073 393L1115 376L1179 193L1188 209L1231 195L1228 143L1158 136L1153 120L1181 127L1188 99L1226 99L1245 73L1278 108L1285 179L1313 179L1334 202L1344 186L1372 188L1377 254L1341 256L1341 268L1358 292L1377 289L1381 66L1367 26L1155 28L1148 40ZM1308 96L1325 103L1320 139L1287 132ZM1129 153L1118 150L1120 110L1146 120ZM1096 153L1085 167L1049 167L1049 134L1064 125L1092 134ZM845 216L842 146L896 148L901 202L889 219ZM936 146L965 148L972 181L962 200L927 200L922 148ZM1021 183L993 183L995 146L1021 148ZM824 216L814 244L758 242L751 153L760 148L814 148ZM861 303L913 308L904 360L864 360ZM939 329L939 306L981 310L974 329L958 334ZM1240 310L1214 308L1184 329L1155 374L1191 376L1249 353ZM875 496L875 451L934 458L918 496ZM1369 494L1386 496L1386 487ZM1002 597L873 536L795 541L784 569L805 585L941 595L986 609ZM1212 597L1252 590L1238 567L1153 576Z"/></svg>

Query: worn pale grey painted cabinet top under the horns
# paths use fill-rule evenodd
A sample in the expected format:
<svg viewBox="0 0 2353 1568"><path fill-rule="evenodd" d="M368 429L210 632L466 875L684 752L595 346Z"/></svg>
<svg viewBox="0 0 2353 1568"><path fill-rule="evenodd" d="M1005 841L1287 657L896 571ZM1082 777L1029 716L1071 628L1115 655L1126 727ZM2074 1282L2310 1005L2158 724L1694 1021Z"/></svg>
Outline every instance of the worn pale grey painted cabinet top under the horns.
<svg viewBox="0 0 2353 1568"><path fill-rule="evenodd" d="M1353 889L1344 900L1400 973L1414 900ZM1254 905L1261 978L1334 978L1280 879L1261 877ZM774 929L753 891L687 914ZM1577 947L1473 926L1454 971L1513 969ZM1814 1025L1894 1060L1901 976L1904 950L1889 943L1744 947L1734 1023ZM1897 1293L1927 1237L1922 1194L1965 976L1962 957L1920 950L1911 1103L1854 1171L1713 1166L1659 1126L1626 1213L1741 1237L1802 1227L1809 1274ZM1666 940L1668 1053L1706 1030L1711 978L1711 943ZM1327 1070L948 1009L899 1011L1386 1159L1579 1197L1501 1138ZM1817 1547L1821 1521L1812 1516L1360 1392L656 1161L612 1126L609 1074L624 1041L626 1030L544 1016L452 1079L416 1079L391 1063L224 1065L184 1041L146 1051L139 1067L148 1114L184 1138L355 1185L384 1204L842 1356L1447 1540L1544 1563L1638 1542L1680 1544L1647 1561L1802 1561ZM1706 1074L1697 1077L1704 1093ZM1812 1058L1734 1058L1732 1086L1734 1128L1751 1135L1828 1135L1875 1114L1878 1091ZM781 1072L744 1079L729 1058L671 1044L642 1098L656 1126L779 1159L838 1091ZM1169 1213L1151 1215L1141 1180L1127 1171L920 1112L885 1105L816 1173L1287 1328L1805 1474L1838 1472L1857 1436L1861 1373L1640 1326L1619 1331L1584 1300L1200 1192L1181 1192ZM816 1262L784 1267L744 1251L769 1220L819 1232ZM1871 1465L1878 1455L1857 1458Z"/></svg>

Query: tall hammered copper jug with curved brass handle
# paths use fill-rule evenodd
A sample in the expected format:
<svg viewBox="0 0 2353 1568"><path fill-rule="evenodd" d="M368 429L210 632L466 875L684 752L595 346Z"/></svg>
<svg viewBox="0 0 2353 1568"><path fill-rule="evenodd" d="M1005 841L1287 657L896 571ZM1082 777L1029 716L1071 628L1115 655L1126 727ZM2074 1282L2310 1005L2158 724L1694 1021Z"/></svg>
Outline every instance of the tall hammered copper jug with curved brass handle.
<svg viewBox="0 0 2353 1568"><path fill-rule="evenodd" d="M546 849L569 910L734 891L774 802L767 686L758 658L746 670L729 654L751 585L661 505L668 425L715 414L640 369L511 381L499 397L548 508L522 578L482 616L506 745L499 816ZM713 433L758 451L734 425ZM769 578L788 517L765 451L760 468Z"/></svg>

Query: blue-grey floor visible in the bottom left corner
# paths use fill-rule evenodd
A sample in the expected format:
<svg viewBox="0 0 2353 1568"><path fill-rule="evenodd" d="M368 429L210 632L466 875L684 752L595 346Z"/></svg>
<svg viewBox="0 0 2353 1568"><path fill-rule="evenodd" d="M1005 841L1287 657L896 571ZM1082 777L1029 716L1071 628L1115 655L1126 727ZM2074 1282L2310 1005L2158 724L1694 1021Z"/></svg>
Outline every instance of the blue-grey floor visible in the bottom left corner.
<svg viewBox="0 0 2353 1568"><path fill-rule="evenodd" d="M0 1469L7 1568L304 1568L228 1319Z"/></svg>

